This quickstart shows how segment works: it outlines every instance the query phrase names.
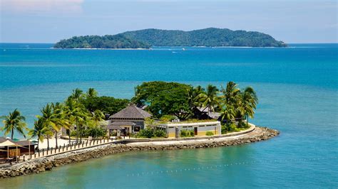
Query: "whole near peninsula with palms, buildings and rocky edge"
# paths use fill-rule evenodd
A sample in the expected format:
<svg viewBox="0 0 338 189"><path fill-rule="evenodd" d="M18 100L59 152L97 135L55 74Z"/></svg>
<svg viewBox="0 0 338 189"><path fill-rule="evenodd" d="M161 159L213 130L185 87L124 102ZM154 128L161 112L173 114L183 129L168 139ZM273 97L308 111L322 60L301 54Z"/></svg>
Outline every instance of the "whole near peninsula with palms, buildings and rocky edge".
<svg viewBox="0 0 338 189"><path fill-rule="evenodd" d="M1 117L0 178L125 151L213 148L264 141L279 134L255 126L252 87L143 82L132 99L73 90L64 102L41 108L31 129L18 109ZM14 139L14 131L28 140Z"/></svg>

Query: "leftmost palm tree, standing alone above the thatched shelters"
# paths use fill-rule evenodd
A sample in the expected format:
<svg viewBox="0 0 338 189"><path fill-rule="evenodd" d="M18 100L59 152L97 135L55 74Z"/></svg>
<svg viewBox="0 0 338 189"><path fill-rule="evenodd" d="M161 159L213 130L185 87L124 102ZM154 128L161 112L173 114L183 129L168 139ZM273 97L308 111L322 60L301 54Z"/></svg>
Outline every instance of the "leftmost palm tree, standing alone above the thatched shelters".
<svg viewBox="0 0 338 189"><path fill-rule="evenodd" d="M4 128L2 131L5 131L5 135L11 133L11 139L14 137L14 131L17 131L19 134L23 135L26 138L25 130L26 127L26 119L21 116L21 113L18 109L14 109L13 112L9 112L8 116L2 116L0 119L4 119L2 122L4 123Z"/></svg>

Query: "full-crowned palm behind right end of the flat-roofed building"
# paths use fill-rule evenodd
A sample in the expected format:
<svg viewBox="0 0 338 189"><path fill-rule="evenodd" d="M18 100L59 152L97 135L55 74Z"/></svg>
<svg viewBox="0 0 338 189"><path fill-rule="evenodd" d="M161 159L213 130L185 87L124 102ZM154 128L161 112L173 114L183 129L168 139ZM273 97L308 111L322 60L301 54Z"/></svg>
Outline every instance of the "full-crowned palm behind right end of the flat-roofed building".
<svg viewBox="0 0 338 189"><path fill-rule="evenodd" d="M201 93L200 95L198 95L203 107L205 107L205 109L207 108L209 109L208 115L209 112L215 112L215 107L220 107L219 97L217 96L218 92L219 90L217 89L216 86L208 85L207 91L205 93ZM203 109L203 111L205 109Z"/></svg>

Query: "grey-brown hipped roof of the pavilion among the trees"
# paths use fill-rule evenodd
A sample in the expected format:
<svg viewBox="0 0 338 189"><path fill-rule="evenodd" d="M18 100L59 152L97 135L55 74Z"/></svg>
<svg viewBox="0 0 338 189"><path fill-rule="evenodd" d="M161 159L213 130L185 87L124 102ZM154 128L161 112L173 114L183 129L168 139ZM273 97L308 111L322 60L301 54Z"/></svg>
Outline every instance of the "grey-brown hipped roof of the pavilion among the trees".
<svg viewBox="0 0 338 189"><path fill-rule="evenodd" d="M145 112L143 109L135 107L135 105L130 105L125 109L122 109L120 112L113 114L111 119L145 119L147 117L151 117L152 115L148 112Z"/></svg>

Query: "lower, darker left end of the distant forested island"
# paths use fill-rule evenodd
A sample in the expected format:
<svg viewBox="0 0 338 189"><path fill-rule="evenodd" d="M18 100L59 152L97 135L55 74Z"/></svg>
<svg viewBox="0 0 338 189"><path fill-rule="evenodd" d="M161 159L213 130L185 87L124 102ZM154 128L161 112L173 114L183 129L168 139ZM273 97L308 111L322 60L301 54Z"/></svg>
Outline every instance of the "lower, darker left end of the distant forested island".
<svg viewBox="0 0 338 189"><path fill-rule="evenodd" d="M75 36L59 41L54 45L54 48L150 48L150 45L118 34L113 36Z"/></svg>

